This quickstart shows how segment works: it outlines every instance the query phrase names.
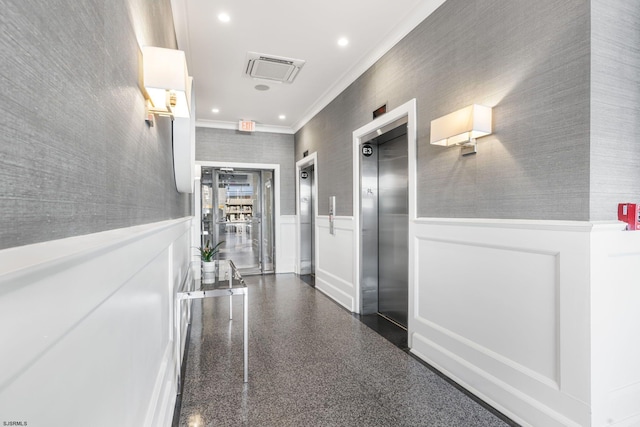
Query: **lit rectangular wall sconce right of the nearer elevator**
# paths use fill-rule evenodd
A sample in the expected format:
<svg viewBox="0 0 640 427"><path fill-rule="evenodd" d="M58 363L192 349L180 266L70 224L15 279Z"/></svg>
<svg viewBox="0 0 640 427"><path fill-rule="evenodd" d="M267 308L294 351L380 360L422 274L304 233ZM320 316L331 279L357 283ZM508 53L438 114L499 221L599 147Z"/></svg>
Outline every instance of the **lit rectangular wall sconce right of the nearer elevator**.
<svg viewBox="0 0 640 427"><path fill-rule="evenodd" d="M461 154L467 156L476 153L476 138L491 131L491 107L473 104L432 120L431 144L461 145Z"/></svg>

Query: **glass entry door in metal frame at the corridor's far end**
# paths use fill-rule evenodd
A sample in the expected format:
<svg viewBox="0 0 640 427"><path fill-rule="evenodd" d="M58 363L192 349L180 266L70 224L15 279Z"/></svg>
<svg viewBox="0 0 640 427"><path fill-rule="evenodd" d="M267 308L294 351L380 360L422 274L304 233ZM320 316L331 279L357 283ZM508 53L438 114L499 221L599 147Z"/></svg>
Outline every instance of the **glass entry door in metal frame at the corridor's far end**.
<svg viewBox="0 0 640 427"><path fill-rule="evenodd" d="M208 176L213 209L208 227L203 210L203 240L208 228L213 245L224 241L220 259L231 259L243 275L272 273L273 171L203 167L203 207Z"/></svg>

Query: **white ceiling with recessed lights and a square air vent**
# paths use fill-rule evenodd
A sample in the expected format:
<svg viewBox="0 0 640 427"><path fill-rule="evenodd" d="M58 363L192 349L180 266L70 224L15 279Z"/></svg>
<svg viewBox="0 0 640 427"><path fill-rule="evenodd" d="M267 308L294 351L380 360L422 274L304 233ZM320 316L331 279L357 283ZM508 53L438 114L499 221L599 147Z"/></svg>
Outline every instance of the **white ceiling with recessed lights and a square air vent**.
<svg viewBox="0 0 640 427"><path fill-rule="evenodd" d="M236 129L253 120L257 130L295 132L442 3L171 0L178 48L194 78L197 125ZM218 20L222 12L229 22ZM346 47L340 37L349 39ZM244 76L250 51L306 63L292 84L257 81Z"/></svg>

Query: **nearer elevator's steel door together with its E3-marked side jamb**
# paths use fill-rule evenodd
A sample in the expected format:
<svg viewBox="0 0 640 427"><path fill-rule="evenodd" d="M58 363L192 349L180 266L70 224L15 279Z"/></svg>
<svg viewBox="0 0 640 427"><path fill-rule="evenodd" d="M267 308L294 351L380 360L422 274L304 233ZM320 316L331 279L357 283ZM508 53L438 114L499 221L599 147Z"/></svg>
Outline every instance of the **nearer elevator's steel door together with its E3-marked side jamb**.
<svg viewBox="0 0 640 427"><path fill-rule="evenodd" d="M361 313L377 313L405 329L409 250L406 123L407 117L401 117L362 138L360 154Z"/></svg>

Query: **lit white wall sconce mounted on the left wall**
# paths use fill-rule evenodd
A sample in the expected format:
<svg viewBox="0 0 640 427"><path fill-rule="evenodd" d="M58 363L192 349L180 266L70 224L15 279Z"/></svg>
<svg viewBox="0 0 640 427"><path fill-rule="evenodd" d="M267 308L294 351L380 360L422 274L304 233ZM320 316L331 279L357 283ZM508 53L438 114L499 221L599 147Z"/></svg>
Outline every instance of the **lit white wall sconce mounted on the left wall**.
<svg viewBox="0 0 640 427"><path fill-rule="evenodd" d="M142 86L153 114L188 118L191 86L184 52L145 46L142 48Z"/></svg>

